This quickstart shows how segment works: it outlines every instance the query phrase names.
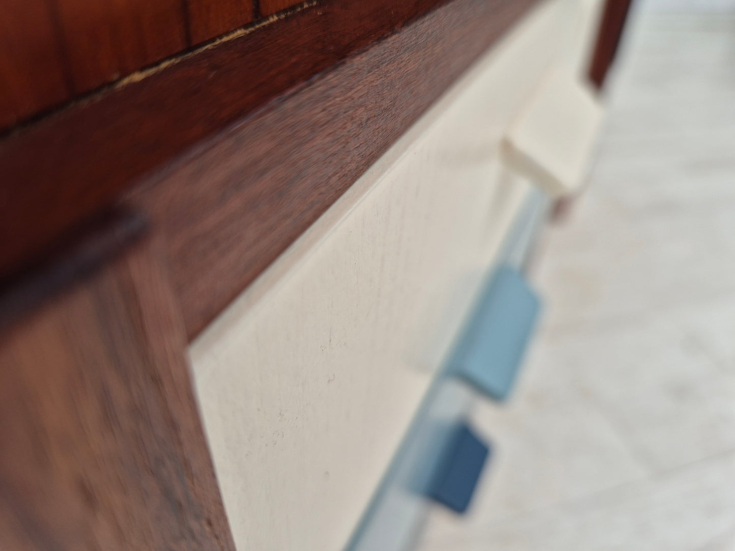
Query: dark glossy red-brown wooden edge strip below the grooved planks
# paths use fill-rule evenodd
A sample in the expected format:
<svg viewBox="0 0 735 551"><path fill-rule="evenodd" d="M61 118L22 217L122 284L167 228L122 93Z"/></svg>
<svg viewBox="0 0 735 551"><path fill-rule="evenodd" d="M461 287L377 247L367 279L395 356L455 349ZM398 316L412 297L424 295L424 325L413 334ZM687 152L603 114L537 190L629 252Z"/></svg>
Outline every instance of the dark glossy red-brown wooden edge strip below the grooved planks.
<svg viewBox="0 0 735 551"><path fill-rule="evenodd" d="M42 255L60 232L187 148L438 3L325 2L6 137L0 142L0 275ZM489 1L487 10L506 3ZM458 10L467 9L460 4Z"/></svg>

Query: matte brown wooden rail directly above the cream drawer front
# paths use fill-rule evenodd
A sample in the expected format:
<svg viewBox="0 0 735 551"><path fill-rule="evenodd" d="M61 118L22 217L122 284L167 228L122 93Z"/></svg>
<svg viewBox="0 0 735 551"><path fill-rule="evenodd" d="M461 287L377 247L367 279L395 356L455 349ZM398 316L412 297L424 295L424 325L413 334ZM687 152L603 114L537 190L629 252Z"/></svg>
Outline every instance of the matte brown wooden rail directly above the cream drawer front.
<svg viewBox="0 0 735 551"><path fill-rule="evenodd" d="M219 137L141 193L167 236L190 338L532 3L449 2Z"/></svg>

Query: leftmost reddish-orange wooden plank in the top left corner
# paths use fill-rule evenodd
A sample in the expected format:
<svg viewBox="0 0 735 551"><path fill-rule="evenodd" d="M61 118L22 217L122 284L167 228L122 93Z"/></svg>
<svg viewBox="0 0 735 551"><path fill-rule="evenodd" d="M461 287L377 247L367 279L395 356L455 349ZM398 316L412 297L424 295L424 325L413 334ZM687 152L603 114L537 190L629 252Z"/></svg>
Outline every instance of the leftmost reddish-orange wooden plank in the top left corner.
<svg viewBox="0 0 735 551"><path fill-rule="evenodd" d="M44 0L6 0L0 14L0 129L71 96L60 33Z"/></svg>

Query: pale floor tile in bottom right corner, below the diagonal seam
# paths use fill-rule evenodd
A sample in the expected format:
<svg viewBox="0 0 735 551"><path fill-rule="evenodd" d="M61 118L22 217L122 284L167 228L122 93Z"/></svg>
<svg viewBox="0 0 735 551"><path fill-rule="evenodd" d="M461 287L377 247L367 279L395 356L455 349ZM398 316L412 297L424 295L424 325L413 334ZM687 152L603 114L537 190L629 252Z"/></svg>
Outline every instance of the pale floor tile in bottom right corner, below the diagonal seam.
<svg viewBox="0 0 735 551"><path fill-rule="evenodd" d="M714 551L731 550L735 453L570 503L434 534L423 551Z"/></svg>

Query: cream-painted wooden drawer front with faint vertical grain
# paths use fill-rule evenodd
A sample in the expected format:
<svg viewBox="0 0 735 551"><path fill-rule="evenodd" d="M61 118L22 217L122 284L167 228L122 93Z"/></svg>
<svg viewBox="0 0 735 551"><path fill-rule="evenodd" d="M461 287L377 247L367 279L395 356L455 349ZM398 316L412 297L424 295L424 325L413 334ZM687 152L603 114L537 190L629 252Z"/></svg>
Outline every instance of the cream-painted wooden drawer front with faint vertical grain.
<svg viewBox="0 0 735 551"><path fill-rule="evenodd" d="M531 12L191 346L238 550L345 546L528 192L498 144L570 4Z"/></svg>

